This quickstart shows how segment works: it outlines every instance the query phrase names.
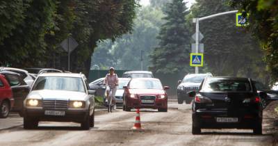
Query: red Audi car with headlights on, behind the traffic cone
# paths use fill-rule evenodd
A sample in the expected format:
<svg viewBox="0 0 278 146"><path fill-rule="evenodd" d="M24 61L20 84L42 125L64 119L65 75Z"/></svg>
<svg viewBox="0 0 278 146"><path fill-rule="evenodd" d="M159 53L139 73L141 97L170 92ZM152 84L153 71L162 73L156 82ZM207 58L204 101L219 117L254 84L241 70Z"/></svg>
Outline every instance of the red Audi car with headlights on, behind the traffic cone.
<svg viewBox="0 0 278 146"><path fill-rule="evenodd" d="M161 112L167 112L167 93L159 79L136 78L131 79L124 86L123 110L131 111L131 108L153 108Z"/></svg>

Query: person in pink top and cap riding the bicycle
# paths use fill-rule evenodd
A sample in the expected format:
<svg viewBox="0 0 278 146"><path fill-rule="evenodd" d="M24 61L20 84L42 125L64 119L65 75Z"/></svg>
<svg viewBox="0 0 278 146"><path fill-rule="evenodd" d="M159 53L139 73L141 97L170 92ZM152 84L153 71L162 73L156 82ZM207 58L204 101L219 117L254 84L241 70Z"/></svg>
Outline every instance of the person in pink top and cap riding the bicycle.
<svg viewBox="0 0 278 146"><path fill-rule="evenodd" d="M117 85L119 83L119 80L117 78L117 74L115 74L114 67L110 67L109 74L106 74L104 82L106 84L106 95L109 95L109 90L110 90L110 88L112 88L112 95L110 95L110 97L112 97L112 105L114 105L114 109L115 109L115 105L116 105L115 104L115 94L117 91Z"/></svg>

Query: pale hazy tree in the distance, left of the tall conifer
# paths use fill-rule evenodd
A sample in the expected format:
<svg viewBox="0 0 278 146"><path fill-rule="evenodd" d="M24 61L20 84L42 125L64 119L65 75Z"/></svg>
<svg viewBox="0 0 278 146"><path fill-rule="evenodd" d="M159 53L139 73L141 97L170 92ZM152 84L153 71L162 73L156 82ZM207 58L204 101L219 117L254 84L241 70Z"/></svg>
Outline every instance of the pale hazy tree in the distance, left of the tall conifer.
<svg viewBox="0 0 278 146"><path fill-rule="evenodd" d="M101 68L113 66L117 70L140 70L140 56L143 52L143 70L150 65L149 54L158 44L159 26L163 24L163 13L160 8L144 6L137 10L133 31L117 38L115 42L100 42L92 56L92 65ZM105 59L104 59L105 58Z"/></svg>

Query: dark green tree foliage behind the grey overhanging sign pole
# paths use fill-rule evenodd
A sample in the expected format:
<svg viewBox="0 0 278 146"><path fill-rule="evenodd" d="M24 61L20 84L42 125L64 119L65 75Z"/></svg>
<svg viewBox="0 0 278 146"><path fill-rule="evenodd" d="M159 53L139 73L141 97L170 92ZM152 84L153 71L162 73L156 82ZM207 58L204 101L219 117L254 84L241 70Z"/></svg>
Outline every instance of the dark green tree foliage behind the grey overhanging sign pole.
<svg viewBox="0 0 278 146"><path fill-rule="evenodd" d="M233 10L222 0L196 2L191 8L191 17ZM248 76L265 81L262 76L265 74L265 65L261 63L263 55L259 43L250 32L236 27L235 20L235 15L222 15L200 22L208 72L218 76Z"/></svg>

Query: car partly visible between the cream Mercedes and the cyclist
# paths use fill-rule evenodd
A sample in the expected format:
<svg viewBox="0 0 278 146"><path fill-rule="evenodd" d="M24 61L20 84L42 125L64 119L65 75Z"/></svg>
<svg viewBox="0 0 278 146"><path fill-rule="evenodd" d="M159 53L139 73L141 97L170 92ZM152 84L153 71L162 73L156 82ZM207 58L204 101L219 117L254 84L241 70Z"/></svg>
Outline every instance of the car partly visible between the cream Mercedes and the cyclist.
<svg viewBox="0 0 278 146"><path fill-rule="evenodd" d="M95 95L100 96L100 97L105 97L105 83L104 83L104 78L99 78L96 79L95 81L92 81L89 83L90 90L95 90Z"/></svg>

